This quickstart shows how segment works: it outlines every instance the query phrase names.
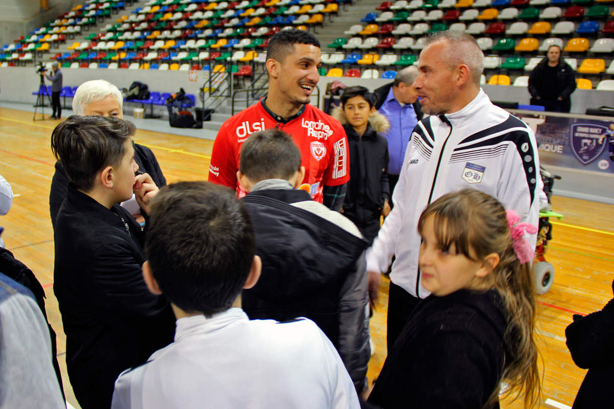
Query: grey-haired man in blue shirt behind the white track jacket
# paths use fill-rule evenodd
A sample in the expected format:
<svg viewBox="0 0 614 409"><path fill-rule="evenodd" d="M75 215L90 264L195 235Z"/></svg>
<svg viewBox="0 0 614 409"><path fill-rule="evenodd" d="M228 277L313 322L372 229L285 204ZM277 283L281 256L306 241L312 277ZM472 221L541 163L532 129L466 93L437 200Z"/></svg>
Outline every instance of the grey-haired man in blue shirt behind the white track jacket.
<svg viewBox="0 0 614 409"><path fill-rule="evenodd" d="M378 97L375 109L390 121L390 129L383 136L388 140L388 151L390 152L388 183L391 197L394 186L398 182L411 132L423 116L418 94L411 86L417 77L416 67L405 67L397 73L393 82L374 91Z"/></svg>

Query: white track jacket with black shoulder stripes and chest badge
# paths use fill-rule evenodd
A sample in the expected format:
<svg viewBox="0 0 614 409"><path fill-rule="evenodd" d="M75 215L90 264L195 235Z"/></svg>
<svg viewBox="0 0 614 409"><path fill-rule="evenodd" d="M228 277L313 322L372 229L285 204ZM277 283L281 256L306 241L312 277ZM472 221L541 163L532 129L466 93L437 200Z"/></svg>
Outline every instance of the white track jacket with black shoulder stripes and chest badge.
<svg viewBox="0 0 614 409"><path fill-rule="evenodd" d="M392 196L394 208L367 250L367 270L386 272L394 254L392 282L413 296L428 296L418 274L422 210L446 193L475 188L537 226L538 171L533 131L493 105L483 90L458 112L424 118L407 147ZM527 239L535 245L535 235Z"/></svg>

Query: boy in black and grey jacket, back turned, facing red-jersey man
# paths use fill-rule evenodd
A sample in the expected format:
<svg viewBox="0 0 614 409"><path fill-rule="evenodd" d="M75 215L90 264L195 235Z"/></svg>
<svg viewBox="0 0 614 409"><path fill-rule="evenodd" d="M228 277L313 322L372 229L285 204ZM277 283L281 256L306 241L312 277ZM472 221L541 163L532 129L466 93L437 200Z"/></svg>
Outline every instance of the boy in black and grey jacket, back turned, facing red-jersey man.
<svg viewBox="0 0 614 409"><path fill-rule="evenodd" d="M300 151L286 132L255 132L241 147L237 177L249 193L243 201L263 261L260 281L243 291L241 302L252 319L313 319L360 392L370 357L367 243L351 221L296 189L304 174Z"/></svg>

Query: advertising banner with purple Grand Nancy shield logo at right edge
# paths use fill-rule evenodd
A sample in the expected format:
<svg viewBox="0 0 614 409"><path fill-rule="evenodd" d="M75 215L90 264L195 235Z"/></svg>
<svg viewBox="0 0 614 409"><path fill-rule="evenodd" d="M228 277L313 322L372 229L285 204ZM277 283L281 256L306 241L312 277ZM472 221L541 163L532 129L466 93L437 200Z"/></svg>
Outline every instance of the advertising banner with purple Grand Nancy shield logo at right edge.
<svg viewBox="0 0 614 409"><path fill-rule="evenodd" d="M614 174L614 120L523 115L535 132L540 162Z"/></svg>

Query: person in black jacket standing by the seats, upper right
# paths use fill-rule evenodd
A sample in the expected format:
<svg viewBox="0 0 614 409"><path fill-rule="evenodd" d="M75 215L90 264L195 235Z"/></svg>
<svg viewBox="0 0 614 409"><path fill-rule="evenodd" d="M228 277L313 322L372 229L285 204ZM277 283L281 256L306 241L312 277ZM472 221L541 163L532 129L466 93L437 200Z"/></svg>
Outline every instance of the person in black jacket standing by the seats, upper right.
<svg viewBox="0 0 614 409"><path fill-rule="evenodd" d="M576 89L575 72L561 57L561 47L551 45L545 58L529 75L530 103L546 111L569 112L571 94Z"/></svg>

